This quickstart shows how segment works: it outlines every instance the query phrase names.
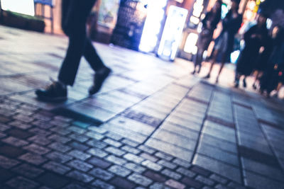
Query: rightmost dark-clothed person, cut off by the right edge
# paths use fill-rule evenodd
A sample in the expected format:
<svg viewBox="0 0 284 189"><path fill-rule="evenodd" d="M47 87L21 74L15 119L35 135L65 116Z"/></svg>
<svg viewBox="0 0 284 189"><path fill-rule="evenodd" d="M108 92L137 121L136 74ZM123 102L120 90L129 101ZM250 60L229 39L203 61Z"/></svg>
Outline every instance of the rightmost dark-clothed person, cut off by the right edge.
<svg viewBox="0 0 284 189"><path fill-rule="evenodd" d="M271 91L276 89L279 83L283 82L284 71L284 30L279 25L273 28L272 32L273 50L268 60L266 70L261 77L260 91L266 91L266 96L270 97Z"/></svg>

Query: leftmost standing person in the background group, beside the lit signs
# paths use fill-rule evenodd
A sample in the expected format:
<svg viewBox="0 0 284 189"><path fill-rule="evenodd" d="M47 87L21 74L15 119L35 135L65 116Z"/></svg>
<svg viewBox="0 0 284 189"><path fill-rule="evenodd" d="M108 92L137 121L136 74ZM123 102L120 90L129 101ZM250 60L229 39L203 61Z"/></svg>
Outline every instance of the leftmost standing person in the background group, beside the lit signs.
<svg viewBox="0 0 284 189"><path fill-rule="evenodd" d="M197 41L198 49L195 57L195 68L192 71L192 74L195 74L197 66L199 67L197 73L200 73L203 53L207 50L210 42L212 41L214 30L221 19L221 6L222 1L216 1L212 10L207 12L206 16L202 20L202 31Z"/></svg>

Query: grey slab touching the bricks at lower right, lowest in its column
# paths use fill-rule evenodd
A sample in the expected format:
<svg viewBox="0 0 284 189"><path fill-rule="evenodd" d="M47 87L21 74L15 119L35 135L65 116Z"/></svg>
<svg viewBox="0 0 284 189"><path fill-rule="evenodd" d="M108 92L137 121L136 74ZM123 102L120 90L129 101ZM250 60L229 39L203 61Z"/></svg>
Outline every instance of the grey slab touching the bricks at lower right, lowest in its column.
<svg viewBox="0 0 284 189"><path fill-rule="evenodd" d="M237 183L241 183L241 171L235 166L229 166L221 161L210 159L209 157L200 154L195 155L193 164L236 181Z"/></svg>

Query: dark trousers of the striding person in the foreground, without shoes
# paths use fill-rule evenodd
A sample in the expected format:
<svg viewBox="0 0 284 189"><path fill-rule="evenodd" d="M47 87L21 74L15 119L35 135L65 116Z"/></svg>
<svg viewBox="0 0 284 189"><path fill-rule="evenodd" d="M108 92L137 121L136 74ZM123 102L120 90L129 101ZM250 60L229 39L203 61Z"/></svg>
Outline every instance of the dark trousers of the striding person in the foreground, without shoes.
<svg viewBox="0 0 284 189"><path fill-rule="evenodd" d="M58 74L58 79L64 84L74 84L82 55L94 70L104 65L86 35L87 17L94 2L62 0L62 29L69 37L68 49Z"/></svg>

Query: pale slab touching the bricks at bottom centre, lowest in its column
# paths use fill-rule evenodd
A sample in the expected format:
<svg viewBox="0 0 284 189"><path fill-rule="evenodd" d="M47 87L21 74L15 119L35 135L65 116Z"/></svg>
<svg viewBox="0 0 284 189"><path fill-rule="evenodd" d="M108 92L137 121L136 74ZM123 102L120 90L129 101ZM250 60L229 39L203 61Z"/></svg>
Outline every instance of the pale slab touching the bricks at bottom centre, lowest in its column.
<svg viewBox="0 0 284 189"><path fill-rule="evenodd" d="M160 151L163 151L166 154L177 156L178 158L183 159L185 161L191 161L193 155L193 151L182 149L181 147L177 147L173 144L169 144L154 138L148 139L146 141L146 145L158 149Z"/></svg>

